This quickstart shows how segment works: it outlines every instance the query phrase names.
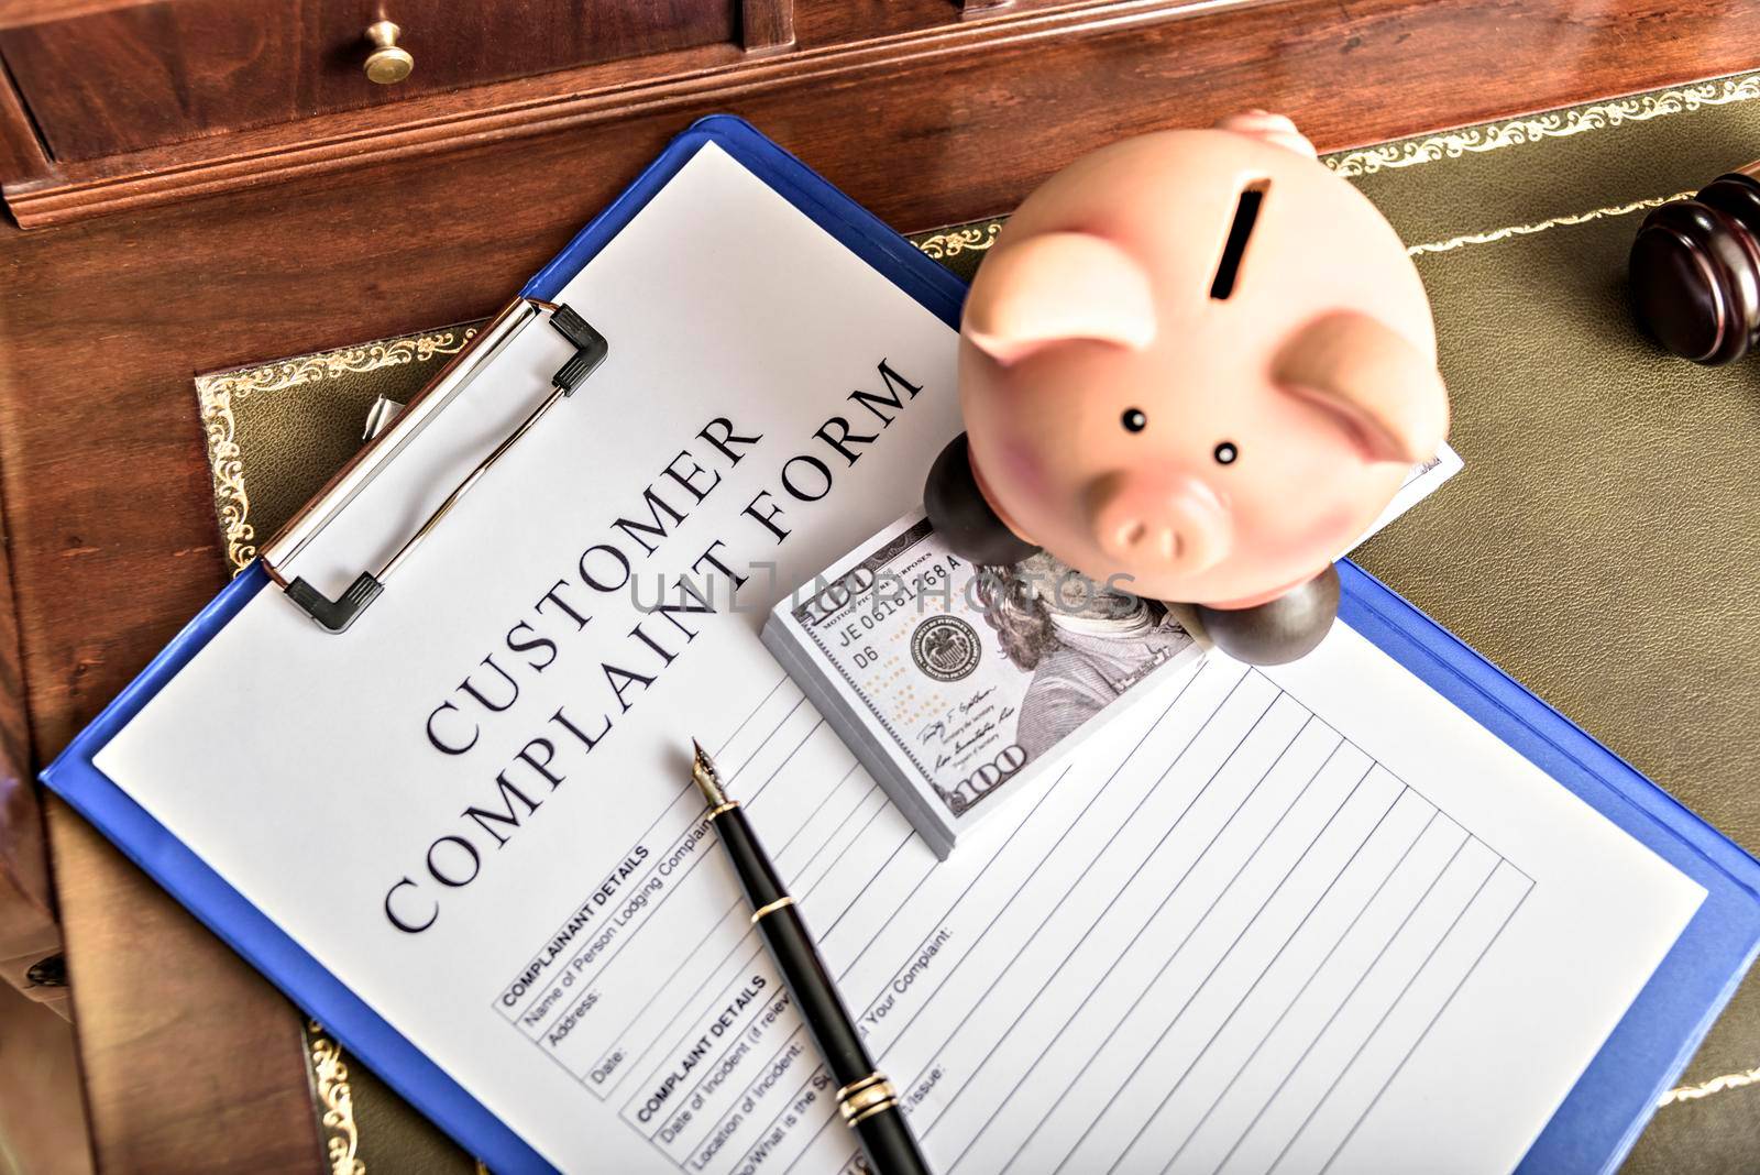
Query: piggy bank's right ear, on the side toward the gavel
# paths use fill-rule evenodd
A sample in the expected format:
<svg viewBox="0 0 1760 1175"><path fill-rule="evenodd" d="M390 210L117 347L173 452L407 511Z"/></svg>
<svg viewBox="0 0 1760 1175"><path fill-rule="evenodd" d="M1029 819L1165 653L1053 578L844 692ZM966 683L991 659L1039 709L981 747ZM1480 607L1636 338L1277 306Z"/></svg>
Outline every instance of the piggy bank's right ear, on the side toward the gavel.
<svg viewBox="0 0 1760 1175"><path fill-rule="evenodd" d="M1278 352L1272 375L1334 415L1366 461L1429 461L1448 434L1448 392L1434 361L1368 315L1311 322Z"/></svg>

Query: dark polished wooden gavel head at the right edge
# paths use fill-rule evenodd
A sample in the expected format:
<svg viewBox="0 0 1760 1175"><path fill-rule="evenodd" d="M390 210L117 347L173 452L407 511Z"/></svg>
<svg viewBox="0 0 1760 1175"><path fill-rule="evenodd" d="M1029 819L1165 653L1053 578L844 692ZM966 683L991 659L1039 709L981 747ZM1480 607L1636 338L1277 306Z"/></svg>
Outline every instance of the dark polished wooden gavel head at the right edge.
<svg viewBox="0 0 1760 1175"><path fill-rule="evenodd" d="M1639 320L1683 359L1725 364L1760 341L1760 162L1644 218L1632 297Z"/></svg>

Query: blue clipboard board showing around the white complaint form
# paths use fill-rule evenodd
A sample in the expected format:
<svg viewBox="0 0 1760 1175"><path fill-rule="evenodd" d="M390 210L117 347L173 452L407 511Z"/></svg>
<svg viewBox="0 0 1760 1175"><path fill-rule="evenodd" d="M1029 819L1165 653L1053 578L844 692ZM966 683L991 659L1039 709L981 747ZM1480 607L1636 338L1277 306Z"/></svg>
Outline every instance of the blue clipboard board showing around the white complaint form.
<svg viewBox="0 0 1760 1175"><path fill-rule="evenodd" d="M963 281L732 116L704 118L678 135L521 294L553 299L706 142L718 144L855 255L957 329ZM1369 573L1348 561L1339 565L1339 572L1345 623L1561 786L1705 887L1704 906L1519 1168L1547 1173L1610 1171L1760 950L1760 862ZM259 563L234 579L69 744L42 772L42 781L459 1145L500 1173L551 1170L537 1150L319 966L92 762L268 584L268 573Z"/></svg>

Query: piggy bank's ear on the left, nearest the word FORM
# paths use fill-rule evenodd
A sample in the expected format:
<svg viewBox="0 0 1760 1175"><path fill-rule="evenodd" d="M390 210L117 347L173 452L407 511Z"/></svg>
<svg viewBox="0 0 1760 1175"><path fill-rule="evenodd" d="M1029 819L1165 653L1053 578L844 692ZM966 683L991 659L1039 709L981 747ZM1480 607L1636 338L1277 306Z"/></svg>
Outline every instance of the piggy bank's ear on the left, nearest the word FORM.
<svg viewBox="0 0 1760 1175"><path fill-rule="evenodd" d="M1137 259L1088 232L1042 232L991 253L961 332L998 362L1065 339L1142 348L1155 339L1155 297Z"/></svg>

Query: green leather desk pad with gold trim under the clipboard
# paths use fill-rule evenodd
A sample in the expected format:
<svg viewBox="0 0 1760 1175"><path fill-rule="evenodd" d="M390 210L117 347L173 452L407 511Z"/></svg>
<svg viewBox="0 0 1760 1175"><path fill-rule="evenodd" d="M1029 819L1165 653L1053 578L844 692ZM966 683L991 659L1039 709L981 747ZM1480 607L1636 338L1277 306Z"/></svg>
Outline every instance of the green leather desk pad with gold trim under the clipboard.
<svg viewBox="0 0 1760 1175"><path fill-rule="evenodd" d="M1644 211L1753 158L1760 74L1327 162L1412 246L1466 461L1357 559L1760 851L1760 355L1665 355L1624 287ZM998 225L913 241L970 276ZM473 325L197 378L234 566L356 450L373 398L407 399ZM1624 1170L1760 1170L1756 1066L1749 978ZM385 1120L377 1145L357 1124L368 1175L435 1159L389 1092L356 1094Z"/></svg>

